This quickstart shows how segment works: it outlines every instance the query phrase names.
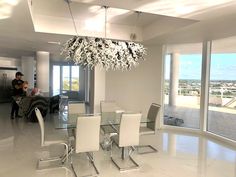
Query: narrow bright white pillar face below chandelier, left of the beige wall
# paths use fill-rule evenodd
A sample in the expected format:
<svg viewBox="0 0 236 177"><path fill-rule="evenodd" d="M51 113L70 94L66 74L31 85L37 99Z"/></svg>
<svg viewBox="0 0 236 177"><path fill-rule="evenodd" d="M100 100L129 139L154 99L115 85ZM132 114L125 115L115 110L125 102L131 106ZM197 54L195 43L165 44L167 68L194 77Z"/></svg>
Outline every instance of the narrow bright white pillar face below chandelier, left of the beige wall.
<svg viewBox="0 0 236 177"><path fill-rule="evenodd" d="M94 74L94 113L100 112L100 102L105 100L106 72L95 68Z"/></svg>

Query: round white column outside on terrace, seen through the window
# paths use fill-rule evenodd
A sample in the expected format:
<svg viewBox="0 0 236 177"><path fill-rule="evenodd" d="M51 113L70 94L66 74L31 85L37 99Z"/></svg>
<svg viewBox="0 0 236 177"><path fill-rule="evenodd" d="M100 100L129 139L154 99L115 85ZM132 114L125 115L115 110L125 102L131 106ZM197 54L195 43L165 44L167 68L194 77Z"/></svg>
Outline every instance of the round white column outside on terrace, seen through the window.
<svg viewBox="0 0 236 177"><path fill-rule="evenodd" d="M171 54L169 105L176 106L179 87L179 54Z"/></svg>

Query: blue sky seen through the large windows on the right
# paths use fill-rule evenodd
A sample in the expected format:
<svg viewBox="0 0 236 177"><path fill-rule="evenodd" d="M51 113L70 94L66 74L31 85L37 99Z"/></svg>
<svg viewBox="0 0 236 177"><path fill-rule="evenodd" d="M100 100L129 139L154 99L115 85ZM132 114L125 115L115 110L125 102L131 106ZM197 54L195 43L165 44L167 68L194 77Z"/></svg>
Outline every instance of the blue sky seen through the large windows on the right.
<svg viewBox="0 0 236 177"><path fill-rule="evenodd" d="M180 55L179 78L201 79L202 56ZM170 55L166 56L165 79L169 79ZM211 55L211 80L236 80L236 53Z"/></svg>

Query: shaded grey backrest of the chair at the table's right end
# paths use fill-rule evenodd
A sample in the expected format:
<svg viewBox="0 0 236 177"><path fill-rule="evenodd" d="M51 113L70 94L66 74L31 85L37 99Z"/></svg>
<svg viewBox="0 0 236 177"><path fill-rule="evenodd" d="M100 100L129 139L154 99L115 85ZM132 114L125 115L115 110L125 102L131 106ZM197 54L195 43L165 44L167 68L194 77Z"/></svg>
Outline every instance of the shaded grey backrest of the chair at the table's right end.
<svg viewBox="0 0 236 177"><path fill-rule="evenodd" d="M147 119L149 119L152 122L147 123L147 127L152 129L153 131L156 130L156 121L157 121L157 115L160 110L161 105L152 103L147 114Z"/></svg>

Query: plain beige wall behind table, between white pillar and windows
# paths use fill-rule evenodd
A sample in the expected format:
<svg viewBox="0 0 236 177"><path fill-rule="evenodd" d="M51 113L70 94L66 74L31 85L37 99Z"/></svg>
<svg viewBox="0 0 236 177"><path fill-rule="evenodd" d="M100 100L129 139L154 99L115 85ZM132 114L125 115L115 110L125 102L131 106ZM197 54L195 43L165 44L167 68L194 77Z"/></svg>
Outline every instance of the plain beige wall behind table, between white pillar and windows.
<svg viewBox="0 0 236 177"><path fill-rule="evenodd" d="M125 110L142 111L151 103L161 104L162 46L147 47L146 60L131 71L106 73L106 100L115 100Z"/></svg>

